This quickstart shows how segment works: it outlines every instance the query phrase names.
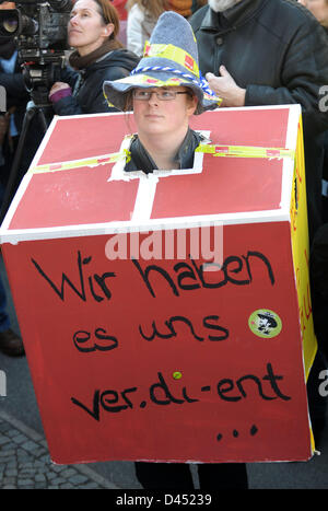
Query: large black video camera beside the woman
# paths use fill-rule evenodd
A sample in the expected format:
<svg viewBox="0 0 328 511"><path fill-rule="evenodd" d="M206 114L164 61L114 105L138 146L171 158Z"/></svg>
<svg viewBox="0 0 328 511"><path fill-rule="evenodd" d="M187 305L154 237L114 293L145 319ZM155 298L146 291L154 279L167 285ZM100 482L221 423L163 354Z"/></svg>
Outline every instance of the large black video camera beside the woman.
<svg viewBox="0 0 328 511"><path fill-rule="evenodd" d="M20 0L16 9L0 10L0 36L14 37L26 89L35 103L47 94L65 65L71 0Z"/></svg>

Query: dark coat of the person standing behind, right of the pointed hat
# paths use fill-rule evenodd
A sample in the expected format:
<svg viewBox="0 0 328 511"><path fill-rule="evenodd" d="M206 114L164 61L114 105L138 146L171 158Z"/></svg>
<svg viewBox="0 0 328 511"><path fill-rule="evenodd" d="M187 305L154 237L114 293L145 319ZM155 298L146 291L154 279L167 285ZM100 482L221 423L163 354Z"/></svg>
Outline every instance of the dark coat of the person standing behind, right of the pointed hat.
<svg viewBox="0 0 328 511"><path fill-rule="evenodd" d="M300 103L311 129L326 129L318 90L328 83L327 36L307 9L292 0L242 0L223 14L221 26L208 5L190 20L202 74L219 74L224 65L246 89L246 106Z"/></svg>

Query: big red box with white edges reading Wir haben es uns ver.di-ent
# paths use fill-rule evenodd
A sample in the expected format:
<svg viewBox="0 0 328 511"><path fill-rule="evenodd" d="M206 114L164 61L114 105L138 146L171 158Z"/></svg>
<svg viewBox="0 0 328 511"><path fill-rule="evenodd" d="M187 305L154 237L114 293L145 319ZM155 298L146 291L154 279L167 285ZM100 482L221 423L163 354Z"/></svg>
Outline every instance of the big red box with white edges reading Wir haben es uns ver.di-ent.
<svg viewBox="0 0 328 511"><path fill-rule="evenodd" d="M129 114L56 117L4 219L56 463L313 455L301 108L192 128L220 155L145 176L122 170Z"/></svg>

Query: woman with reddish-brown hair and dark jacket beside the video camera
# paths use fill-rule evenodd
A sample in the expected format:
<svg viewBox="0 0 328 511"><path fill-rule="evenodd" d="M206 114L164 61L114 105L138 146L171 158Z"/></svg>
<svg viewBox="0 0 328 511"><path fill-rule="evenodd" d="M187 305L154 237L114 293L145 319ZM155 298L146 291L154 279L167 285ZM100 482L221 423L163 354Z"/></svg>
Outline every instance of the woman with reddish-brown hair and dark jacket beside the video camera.
<svg viewBox="0 0 328 511"><path fill-rule="evenodd" d="M127 77L139 60L116 38L118 32L119 18L109 0L75 2L68 24L68 42L75 48L69 58L73 69L62 70L62 81L49 93L57 115L115 111L104 97L103 82Z"/></svg>

